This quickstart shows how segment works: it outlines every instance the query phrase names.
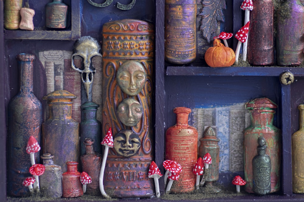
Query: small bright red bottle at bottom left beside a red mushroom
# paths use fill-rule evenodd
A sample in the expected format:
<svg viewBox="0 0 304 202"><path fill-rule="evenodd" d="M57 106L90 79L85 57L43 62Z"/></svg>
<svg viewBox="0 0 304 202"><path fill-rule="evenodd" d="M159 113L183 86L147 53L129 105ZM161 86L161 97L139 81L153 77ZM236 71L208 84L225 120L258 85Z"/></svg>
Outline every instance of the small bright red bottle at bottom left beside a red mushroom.
<svg viewBox="0 0 304 202"><path fill-rule="evenodd" d="M80 173L77 171L77 162L67 162L67 172L62 174L62 197L73 198L83 195Z"/></svg>

